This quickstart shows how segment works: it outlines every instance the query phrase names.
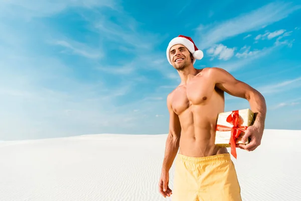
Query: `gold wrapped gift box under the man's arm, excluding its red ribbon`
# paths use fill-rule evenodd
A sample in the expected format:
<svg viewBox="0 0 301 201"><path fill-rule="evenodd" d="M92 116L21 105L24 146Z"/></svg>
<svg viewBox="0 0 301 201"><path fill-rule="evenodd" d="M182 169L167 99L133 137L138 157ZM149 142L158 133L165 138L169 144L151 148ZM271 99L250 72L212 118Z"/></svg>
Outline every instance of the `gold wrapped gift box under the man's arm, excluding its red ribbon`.
<svg viewBox="0 0 301 201"><path fill-rule="evenodd" d="M215 144L219 147L230 147L230 137L231 137L231 129L233 127L232 124L228 123L226 120L231 112L219 113L217 116L216 123L216 135L215 135ZM238 125L240 126L251 126L254 123L254 113L249 109L238 110ZM229 131L218 131L218 125L229 127ZM236 144L248 144L250 139L247 139L245 143L241 141L244 132L241 132L239 137L236 140Z"/></svg>

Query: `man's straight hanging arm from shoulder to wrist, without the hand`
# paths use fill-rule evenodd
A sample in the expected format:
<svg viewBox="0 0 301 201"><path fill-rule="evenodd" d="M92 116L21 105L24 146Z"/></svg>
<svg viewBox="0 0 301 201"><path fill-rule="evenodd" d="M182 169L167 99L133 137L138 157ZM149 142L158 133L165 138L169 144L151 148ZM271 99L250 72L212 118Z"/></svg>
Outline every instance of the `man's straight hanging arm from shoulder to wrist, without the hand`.
<svg viewBox="0 0 301 201"><path fill-rule="evenodd" d="M181 124L178 115L172 108L172 94L167 97L167 107L170 114L169 134L166 140L165 156L162 166L162 172L169 172L174 159L178 153L181 136Z"/></svg>

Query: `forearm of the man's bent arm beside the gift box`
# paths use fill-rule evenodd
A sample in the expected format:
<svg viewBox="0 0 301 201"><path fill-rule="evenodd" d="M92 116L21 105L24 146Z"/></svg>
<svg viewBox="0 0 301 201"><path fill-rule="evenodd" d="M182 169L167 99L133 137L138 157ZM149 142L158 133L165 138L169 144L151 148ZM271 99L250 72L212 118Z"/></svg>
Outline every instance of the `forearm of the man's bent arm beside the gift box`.
<svg viewBox="0 0 301 201"><path fill-rule="evenodd" d="M255 90L249 95L248 101L250 103L251 111L257 113L253 125L258 127L261 131L263 131L266 117L265 99L261 93Z"/></svg>

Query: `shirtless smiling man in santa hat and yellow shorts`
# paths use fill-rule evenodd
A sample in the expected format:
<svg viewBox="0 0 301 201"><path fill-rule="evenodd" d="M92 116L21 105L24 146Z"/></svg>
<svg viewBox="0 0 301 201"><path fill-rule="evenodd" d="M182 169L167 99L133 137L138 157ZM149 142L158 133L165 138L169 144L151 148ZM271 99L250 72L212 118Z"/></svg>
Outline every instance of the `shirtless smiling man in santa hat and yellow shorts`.
<svg viewBox="0 0 301 201"><path fill-rule="evenodd" d="M190 37L180 35L167 48L168 61L178 71L181 83L167 96L169 135L159 190L173 201L238 201L240 186L230 154L215 145L217 115L224 112L224 92L247 99L257 116L243 138L246 141L250 137L250 143L238 147L253 151L263 134L265 100L257 90L221 68L195 69L193 64L202 57L203 52ZM169 170L176 156L172 191Z"/></svg>

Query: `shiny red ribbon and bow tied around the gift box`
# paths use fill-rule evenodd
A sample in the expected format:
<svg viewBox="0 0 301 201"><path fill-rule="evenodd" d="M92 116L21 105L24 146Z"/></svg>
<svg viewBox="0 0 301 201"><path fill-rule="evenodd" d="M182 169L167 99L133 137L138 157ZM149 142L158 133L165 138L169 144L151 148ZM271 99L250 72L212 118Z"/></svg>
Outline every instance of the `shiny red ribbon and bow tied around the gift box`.
<svg viewBox="0 0 301 201"><path fill-rule="evenodd" d="M232 124L232 127L224 125L216 125L216 131L231 131L231 137L229 144L231 145L231 154L236 159L236 140L241 134L241 132L246 132L247 126L241 126L239 123L239 114L238 110L232 111L232 113L227 117L226 120L228 123Z"/></svg>

